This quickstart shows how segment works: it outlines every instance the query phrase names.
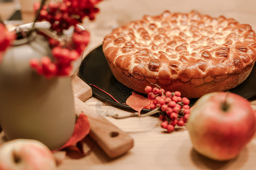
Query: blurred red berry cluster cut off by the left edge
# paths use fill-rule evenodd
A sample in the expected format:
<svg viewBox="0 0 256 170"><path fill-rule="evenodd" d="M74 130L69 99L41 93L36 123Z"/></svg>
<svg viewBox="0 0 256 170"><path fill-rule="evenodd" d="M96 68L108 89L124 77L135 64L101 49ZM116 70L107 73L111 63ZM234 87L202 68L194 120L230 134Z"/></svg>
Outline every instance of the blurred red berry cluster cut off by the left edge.
<svg viewBox="0 0 256 170"><path fill-rule="evenodd" d="M4 52L11 42L16 39L16 35L13 32L9 32L5 25L0 23L0 61L2 60L2 52Z"/></svg>

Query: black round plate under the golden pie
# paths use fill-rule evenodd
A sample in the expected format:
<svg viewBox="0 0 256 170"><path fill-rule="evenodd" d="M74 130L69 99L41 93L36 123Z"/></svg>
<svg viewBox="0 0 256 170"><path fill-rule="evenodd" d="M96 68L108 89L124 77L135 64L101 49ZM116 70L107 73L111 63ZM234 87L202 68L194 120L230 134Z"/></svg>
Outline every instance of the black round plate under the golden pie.
<svg viewBox="0 0 256 170"><path fill-rule="evenodd" d="M246 99L251 99L256 94L255 75L256 68L254 66L251 74L245 80L245 82L229 91L233 92L234 94L241 95ZM105 92L91 86L94 96L108 103L131 109L128 105L122 103L126 103L126 99L131 95L133 90L124 86L122 83L118 82L117 79L115 79L110 70L108 62L106 61L104 53L102 52L102 45L92 50L92 52L90 52L88 56L83 59L79 69L79 76L82 80L84 80L85 83L89 85L94 84L95 86L101 88L101 90L108 92L120 103L114 101L112 97L105 94ZM191 99L190 105L193 105L196 100L197 99ZM144 109L144 111L147 111L147 109Z"/></svg>

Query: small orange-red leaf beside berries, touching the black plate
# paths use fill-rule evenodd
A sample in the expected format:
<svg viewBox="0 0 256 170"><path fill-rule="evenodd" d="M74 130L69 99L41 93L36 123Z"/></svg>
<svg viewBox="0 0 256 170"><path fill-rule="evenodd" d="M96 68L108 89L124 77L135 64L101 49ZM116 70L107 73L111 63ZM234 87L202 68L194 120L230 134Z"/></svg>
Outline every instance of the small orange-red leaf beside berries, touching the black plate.
<svg viewBox="0 0 256 170"><path fill-rule="evenodd" d="M126 100L126 104L141 114L141 110L150 104L150 99L133 92Z"/></svg>

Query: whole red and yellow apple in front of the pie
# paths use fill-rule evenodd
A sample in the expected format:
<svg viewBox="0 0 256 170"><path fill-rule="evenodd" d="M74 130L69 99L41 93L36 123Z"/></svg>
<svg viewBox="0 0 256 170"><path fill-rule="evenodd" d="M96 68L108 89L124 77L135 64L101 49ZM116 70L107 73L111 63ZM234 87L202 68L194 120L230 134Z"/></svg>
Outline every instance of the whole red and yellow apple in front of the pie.
<svg viewBox="0 0 256 170"><path fill-rule="evenodd" d="M214 160L240 154L255 133L255 114L249 101L228 92L213 92L197 100L187 129L193 147Z"/></svg>

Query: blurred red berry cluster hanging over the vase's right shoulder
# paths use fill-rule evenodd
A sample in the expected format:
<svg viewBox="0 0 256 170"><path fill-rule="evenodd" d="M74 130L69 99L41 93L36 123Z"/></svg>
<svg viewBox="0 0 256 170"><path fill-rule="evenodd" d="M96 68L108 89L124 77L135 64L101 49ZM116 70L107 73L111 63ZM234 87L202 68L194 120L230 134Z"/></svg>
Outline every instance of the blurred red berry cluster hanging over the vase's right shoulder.
<svg viewBox="0 0 256 170"><path fill-rule="evenodd" d="M52 76L69 75L72 70L72 61L79 58L88 45L89 32L75 27L75 31L70 41L62 44L56 39L49 38L52 48L53 60L47 56L39 59L31 59L30 65L40 75L51 78Z"/></svg>

